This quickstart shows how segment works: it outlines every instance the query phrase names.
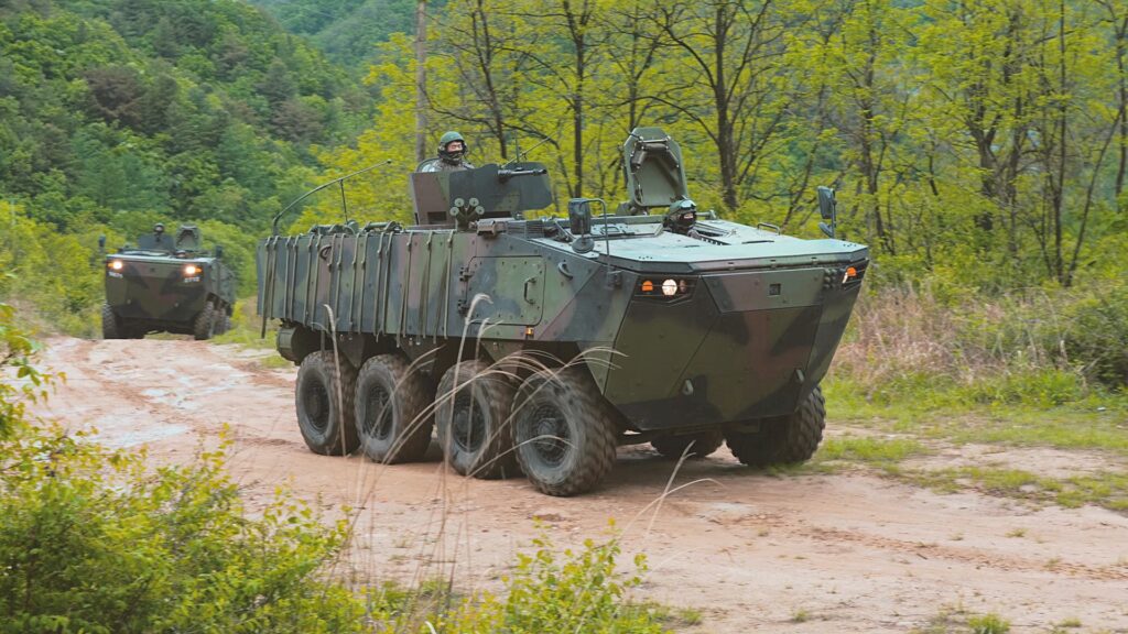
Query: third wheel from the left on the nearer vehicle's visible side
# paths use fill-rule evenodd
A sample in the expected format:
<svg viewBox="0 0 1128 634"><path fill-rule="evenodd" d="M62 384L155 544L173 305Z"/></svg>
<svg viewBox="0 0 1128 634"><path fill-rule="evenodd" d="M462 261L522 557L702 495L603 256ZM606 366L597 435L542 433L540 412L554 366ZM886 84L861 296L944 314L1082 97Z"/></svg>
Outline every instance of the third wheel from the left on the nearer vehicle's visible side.
<svg viewBox="0 0 1128 634"><path fill-rule="evenodd" d="M442 375L434 420L442 455L462 475L517 475L510 417L515 387L485 361L457 363Z"/></svg>

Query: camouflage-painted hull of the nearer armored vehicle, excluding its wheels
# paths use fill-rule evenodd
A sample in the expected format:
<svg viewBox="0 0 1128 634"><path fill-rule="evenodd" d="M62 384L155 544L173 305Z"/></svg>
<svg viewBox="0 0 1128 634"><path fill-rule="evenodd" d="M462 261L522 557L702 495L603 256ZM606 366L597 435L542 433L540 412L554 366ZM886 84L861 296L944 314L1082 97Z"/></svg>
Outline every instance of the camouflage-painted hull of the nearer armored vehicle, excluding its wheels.
<svg viewBox="0 0 1128 634"><path fill-rule="evenodd" d="M412 174L414 226L264 239L258 311L281 320L294 363L335 333L354 369L399 353L434 381L475 356L597 351L582 364L619 433L635 434L620 442L796 412L827 372L869 249L696 215L680 149L658 129L632 133L624 165L631 200L590 218L584 240L569 219L537 217L553 202L540 164ZM688 229L669 222L685 210ZM554 486L538 485L574 492Z"/></svg>

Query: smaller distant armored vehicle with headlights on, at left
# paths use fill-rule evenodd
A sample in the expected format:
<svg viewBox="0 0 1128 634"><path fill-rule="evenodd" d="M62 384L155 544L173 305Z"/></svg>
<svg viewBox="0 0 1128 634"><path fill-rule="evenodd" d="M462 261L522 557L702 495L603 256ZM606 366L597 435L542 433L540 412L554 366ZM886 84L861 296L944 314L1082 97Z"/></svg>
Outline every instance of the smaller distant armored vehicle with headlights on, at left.
<svg viewBox="0 0 1128 634"><path fill-rule="evenodd" d="M136 247L107 254L102 336L167 332L206 340L230 328L235 275L223 264L222 248L202 247L199 228L184 224L169 236L157 223Z"/></svg>

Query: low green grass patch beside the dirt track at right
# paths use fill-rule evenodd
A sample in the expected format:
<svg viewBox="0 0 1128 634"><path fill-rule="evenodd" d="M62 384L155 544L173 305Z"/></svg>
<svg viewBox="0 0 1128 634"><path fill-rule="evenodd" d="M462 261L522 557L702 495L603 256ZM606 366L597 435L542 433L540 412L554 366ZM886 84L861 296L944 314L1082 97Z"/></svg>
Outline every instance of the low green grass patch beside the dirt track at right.
<svg viewBox="0 0 1128 634"><path fill-rule="evenodd" d="M1004 384L1014 380L1011 377ZM1095 504L1114 511L1128 510L1125 460L1128 394L1078 391L1075 399L1057 403L1045 397L1046 385L1052 387L1057 379L1048 379L1042 372L1032 380L1034 387L1025 391L1010 388L1010 394L1020 397L984 402L973 398L970 388L920 376L908 377L879 391L880 398L870 399L849 379L831 378L825 382L829 424L864 428L888 437L827 439L809 469L826 472L862 466L937 492L975 490L1067 508ZM978 388L978 393L1001 390L998 386L987 386ZM1026 469L986 465L942 469L905 466L907 459L927 456L945 446L964 444L995 446L1001 452L1013 447L1077 451L1079 467L1086 466L1086 460L1100 463L1092 467L1095 473L1072 476L1040 474L1036 465Z"/></svg>

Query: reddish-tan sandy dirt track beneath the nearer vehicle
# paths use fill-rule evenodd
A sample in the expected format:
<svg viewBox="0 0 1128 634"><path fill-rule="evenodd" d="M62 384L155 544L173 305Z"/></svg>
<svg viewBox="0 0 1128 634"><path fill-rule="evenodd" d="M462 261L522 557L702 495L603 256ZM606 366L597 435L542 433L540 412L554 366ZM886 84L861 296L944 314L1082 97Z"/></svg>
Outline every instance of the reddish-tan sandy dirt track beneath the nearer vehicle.
<svg viewBox="0 0 1128 634"><path fill-rule="evenodd" d="M606 535L614 518L625 552L649 557L636 598L698 610L702 624L686 632L907 632L950 608L996 613L1012 632L1066 619L1081 622L1073 632L1128 632L1128 518L1112 512L862 475L773 477L723 449L686 465L664 500L673 465L645 448L620 449L605 485L575 499L523 479L461 478L434 451L390 467L319 457L298 432L294 371L253 355L191 341L55 338L42 366L67 381L38 413L94 425L116 447L146 444L159 461L190 459L230 425L230 469L250 507L289 485L327 517L359 509L351 563L369 579L453 569L466 589L494 588L538 523L574 546Z"/></svg>

